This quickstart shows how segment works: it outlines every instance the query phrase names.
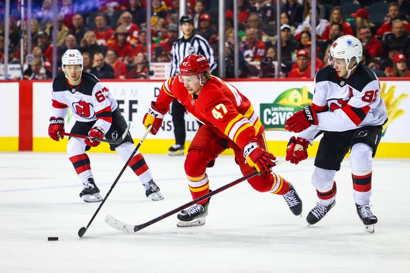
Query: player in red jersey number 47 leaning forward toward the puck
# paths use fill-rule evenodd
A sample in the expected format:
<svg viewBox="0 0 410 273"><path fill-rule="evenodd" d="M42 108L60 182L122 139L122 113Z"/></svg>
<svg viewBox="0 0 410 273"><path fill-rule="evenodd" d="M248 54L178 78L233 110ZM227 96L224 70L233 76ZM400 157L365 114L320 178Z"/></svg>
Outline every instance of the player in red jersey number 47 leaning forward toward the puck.
<svg viewBox="0 0 410 273"><path fill-rule="evenodd" d="M225 149L235 153L235 162L243 175L256 170L261 172L248 180L259 192L270 192L284 197L295 215L302 212L302 202L292 184L275 172L275 156L267 151L263 125L251 102L231 84L211 76L209 61L203 55L189 55L179 67L179 75L166 80L156 102L144 117L144 125L153 125L156 134L162 118L177 99L204 125L199 127L185 160L185 172L193 199L209 193L207 167ZM208 214L209 199L182 210L177 226L203 225Z"/></svg>

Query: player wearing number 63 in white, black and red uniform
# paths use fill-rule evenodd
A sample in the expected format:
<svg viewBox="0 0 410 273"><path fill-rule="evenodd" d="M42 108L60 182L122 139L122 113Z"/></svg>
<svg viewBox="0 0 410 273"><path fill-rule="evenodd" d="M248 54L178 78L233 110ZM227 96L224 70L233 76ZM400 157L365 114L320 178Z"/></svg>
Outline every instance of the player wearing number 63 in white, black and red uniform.
<svg viewBox="0 0 410 273"><path fill-rule="evenodd" d="M90 135L92 138L115 140L124 134L127 123L122 117L117 101L110 95L108 88L92 74L83 72L83 56L78 50L67 50L62 58L63 72L53 80L52 117L48 133L50 138L59 141L58 132L64 132L64 118L70 108L76 120L71 133ZM61 139L64 137L61 136ZM86 202L98 202L103 198L95 185L86 151L98 146L99 142L89 139L70 138L67 153L81 182L84 185L80 197ZM110 144L122 160L127 161L135 149L131 134L119 144ZM152 200L163 199L159 188L142 154L137 151L129 163L145 186L146 196Z"/></svg>

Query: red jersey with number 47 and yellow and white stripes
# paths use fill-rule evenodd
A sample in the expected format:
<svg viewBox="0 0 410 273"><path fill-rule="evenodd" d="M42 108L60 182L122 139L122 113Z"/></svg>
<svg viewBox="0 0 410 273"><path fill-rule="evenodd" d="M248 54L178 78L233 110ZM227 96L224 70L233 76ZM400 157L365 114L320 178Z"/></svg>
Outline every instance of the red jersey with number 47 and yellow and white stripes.
<svg viewBox="0 0 410 273"><path fill-rule="evenodd" d="M215 128L221 138L231 139L242 149L256 142L263 132L251 102L217 77L207 80L198 96L188 94L178 76L171 77L162 84L155 106L166 112L174 98L200 122Z"/></svg>

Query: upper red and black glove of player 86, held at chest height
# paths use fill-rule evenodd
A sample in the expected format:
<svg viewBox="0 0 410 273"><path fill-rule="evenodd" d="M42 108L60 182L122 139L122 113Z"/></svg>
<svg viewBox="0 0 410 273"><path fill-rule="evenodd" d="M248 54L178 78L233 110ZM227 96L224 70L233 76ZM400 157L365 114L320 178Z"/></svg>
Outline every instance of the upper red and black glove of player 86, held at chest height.
<svg viewBox="0 0 410 273"><path fill-rule="evenodd" d="M285 123L285 130L290 132L301 132L312 125L318 125L315 108L311 106L305 106L303 110L300 110Z"/></svg>

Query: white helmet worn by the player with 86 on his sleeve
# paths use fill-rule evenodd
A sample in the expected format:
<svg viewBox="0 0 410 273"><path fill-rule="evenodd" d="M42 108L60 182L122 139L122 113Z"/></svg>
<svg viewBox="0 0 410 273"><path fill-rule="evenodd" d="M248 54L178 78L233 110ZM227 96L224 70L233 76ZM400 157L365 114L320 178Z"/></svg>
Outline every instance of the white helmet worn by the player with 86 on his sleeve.
<svg viewBox="0 0 410 273"><path fill-rule="evenodd" d="M352 58L356 58L356 64L352 69L348 69ZM352 35L344 35L336 39L330 47L328 62L331 67L335 63L335 59L344 59L346 62L347 78L351 72L360 63L363 57L362 43L359 39Z"/></svg>

